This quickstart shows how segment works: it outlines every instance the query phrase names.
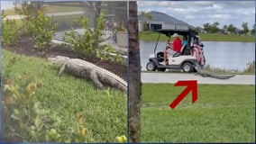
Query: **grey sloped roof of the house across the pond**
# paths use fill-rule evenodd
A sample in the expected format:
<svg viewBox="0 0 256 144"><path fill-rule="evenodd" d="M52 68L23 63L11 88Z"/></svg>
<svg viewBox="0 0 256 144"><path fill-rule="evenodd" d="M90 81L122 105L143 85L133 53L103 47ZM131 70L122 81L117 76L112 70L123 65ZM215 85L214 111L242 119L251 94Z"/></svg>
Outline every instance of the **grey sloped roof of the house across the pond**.
<svg viewBox="0 0 256 144"><path fill-rule="evenodd" d="M169 24L178 24L178 25L186 25L189 26L189 24L182 22L172 16L169 16L168 14L151 11L147 14L151 14L151 20L152 22L162 22L162 23L169 23ZM139 15L140 21L149 21L149 19L145 15Z"/></svg>

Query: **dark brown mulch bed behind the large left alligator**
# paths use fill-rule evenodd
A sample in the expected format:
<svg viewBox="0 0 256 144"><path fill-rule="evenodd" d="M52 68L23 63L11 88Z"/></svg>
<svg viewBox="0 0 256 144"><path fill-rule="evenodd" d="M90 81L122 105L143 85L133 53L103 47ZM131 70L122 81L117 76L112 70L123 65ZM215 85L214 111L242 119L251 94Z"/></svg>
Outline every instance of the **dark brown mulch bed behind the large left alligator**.
<svg viewBox="0 0 256 144"><path fill-rule="evenodd" d="M18 38L16 44L12 46L3 46L2 48L12 51L16 54L39 57L39 58L49 58L50 56L57 56L57 55L66 56L69 58L81 58L96 64L96 66L98 67L103 67L113 72L114 74L122 77L124 80L127 79L127 67L121 64L118 64L112 61L101 60L99 58L85 58L81 54L70 49L69 46L66 46L66 45L54 44L52 47L47 48L46 52L42 54L40 49L36 49L33 47L34 43L35 42L34 40L32 40L32 37L21 36Z"/></svg>

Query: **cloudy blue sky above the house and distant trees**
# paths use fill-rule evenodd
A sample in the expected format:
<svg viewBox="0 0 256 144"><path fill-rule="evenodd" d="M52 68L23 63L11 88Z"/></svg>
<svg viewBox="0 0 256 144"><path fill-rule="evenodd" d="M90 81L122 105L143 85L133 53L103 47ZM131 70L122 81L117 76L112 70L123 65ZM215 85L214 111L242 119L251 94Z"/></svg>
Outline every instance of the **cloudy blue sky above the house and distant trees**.
<svg viewBox="0 0 256 144"><path fill-rule="evenodd" d="M204 23L233 24L242 29L248 23L249 29L255 23L255 1L138 1L138 11L158 11L169 14L185 23L203 27Z"/></svg>

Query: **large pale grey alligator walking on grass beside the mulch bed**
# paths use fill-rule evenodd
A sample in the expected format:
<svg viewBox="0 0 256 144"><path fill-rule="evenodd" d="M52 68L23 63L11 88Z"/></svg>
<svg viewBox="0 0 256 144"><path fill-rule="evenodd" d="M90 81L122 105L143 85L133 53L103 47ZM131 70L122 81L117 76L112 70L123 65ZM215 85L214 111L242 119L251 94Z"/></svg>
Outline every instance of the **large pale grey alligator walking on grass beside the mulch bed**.
<svg viewBox="0 0 256 144"><path fill-rule="evenodd" d="M64 70L67 70L75 76L92 80L99 89L104 89L105 86L103 84L105 84L120 89L123 92L127 91L127 82L123 78L86 60L63 56L50 57L48 60L60 67L59 75Z"/></svg>

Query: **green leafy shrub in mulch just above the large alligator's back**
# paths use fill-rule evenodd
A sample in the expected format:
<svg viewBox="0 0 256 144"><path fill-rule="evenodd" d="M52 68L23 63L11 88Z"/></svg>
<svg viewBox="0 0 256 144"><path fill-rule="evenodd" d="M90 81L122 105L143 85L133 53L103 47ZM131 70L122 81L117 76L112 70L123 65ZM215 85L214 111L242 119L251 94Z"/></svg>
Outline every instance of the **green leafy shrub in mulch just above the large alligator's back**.
<svg viewBox="0 0 256 144"><path fill-rule="evenodd" d="M81 16L78 23L83 26L85 30L84 35L80 36L78 31L71 28L71 31L66 32L64 37L64 40L71 44L75 50L89 58L100 58L126 64L126 61L117 54L118 52L114 47L110 45L98 47L99 42L102 41L105 29L103 13L96 19L94 30L88 27L88 18L85 16Z"/></svg>

